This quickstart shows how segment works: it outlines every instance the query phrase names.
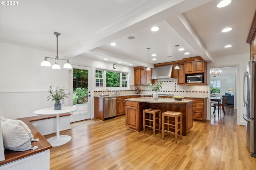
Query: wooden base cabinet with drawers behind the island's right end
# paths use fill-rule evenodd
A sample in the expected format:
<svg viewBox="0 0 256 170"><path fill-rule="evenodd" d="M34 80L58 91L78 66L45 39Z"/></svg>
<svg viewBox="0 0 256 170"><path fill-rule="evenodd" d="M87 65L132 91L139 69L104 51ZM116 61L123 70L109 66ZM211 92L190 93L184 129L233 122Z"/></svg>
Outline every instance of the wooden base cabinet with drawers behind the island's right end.
<svg viewBox="0 0 256 170"><path fill-rule="evenodd" d="M196 121L204 121L206 119L206 98L198 99L198 98L184 98L193 101L193 120Z"/></svg>

